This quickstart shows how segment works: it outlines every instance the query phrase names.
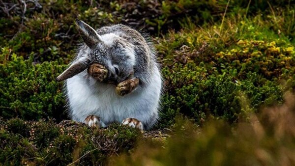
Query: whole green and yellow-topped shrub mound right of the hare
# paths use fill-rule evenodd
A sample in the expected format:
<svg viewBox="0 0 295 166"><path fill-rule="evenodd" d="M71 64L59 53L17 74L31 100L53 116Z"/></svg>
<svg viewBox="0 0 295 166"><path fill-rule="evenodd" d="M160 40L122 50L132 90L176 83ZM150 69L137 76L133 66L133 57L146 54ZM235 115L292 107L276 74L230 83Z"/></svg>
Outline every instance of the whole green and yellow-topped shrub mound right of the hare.
<svg viewBox="0 0 295 166"><path fill-rule="evenodd" d="M277 34L269 39L269 29L257 34L257 29L243 27L224 32L231 38L196 28L170 32L159 41L166 67L158 127L173 124L179 113L199 124L211 117L236 122L245 112L280 104L283 93L294 89L293 44ZM253 40L260 37L265 41Z"/></svg>

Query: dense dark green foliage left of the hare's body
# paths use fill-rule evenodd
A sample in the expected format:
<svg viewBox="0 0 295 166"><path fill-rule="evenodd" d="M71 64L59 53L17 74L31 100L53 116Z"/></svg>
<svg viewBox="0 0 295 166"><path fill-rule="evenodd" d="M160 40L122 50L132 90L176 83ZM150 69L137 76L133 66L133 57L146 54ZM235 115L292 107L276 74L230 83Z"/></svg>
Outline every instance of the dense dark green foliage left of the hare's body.
<svg viewBox="0 0 295 166"><path fill-rule="evenodd" d="M65 66L59 61L34 64L32 55L10 54L3 48L0 54L0 116L39 119L66 117L62 83L55 78Z"/></svg>

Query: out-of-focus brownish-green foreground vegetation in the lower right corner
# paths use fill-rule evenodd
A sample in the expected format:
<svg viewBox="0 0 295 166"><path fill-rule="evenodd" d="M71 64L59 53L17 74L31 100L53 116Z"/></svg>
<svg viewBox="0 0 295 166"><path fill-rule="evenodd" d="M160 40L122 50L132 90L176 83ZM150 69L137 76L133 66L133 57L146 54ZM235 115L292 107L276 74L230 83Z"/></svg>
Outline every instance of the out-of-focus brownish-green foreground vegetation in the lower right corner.
<svg viewBox="0 0 295 166"><path fill-rule="evenodd" d="M285 101L235 127L213 120L200 128L178 120L166 144L141 143L131 155L113 157L109 165L294 165L295 96L287 93Z"/></svg>

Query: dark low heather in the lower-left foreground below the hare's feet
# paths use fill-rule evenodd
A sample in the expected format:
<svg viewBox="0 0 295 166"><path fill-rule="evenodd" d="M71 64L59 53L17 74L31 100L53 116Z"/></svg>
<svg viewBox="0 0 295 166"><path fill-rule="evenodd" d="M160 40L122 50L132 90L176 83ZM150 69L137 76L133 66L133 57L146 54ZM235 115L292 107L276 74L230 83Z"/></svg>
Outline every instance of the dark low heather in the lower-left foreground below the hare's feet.
<svg viewBox="0 0 295 166"><path fill-rule="evenodd" d="M99 165L108 156L133 148L138 138L139 130L118 124L97 129L72 121L16 118L1 123L0 163L64 166L77 160L79 165Z"/></svg>

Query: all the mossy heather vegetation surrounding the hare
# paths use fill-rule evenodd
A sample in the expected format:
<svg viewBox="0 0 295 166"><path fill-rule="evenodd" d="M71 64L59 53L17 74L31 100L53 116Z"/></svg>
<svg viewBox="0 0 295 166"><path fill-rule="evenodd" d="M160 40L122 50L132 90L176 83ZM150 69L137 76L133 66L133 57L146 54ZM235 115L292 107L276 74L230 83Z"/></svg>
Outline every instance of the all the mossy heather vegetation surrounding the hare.
<svg viewBox="0 0 295 166"><path fill-rule="evenodd" d="M152 131L62 121L76 18L151 36ZM0 163L295 165L294 76L295 0L0 0Z"/></svg>

